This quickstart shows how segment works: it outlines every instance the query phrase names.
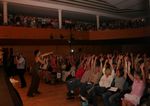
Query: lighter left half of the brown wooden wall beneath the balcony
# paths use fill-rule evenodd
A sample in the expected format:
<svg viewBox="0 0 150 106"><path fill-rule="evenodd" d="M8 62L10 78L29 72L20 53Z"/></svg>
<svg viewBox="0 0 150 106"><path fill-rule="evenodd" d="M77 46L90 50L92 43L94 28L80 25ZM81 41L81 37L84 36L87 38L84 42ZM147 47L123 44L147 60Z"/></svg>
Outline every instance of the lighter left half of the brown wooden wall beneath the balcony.
<svg viewBox="0 0 150 106"><path fill-rule="evenodd" d="M48 45L48 46L43 46L43 45L34 45L34 46L29 46L29 45L7 45L7 46L1 46L2 48L13 48L14 50L14 55L17 55L19 52L23 53L23 55L26 57L28 64L32 64L34 60L34 50L39 49L41 53L53 51L54 54L56 55L67 55L69 54L69 46L61 46L61 45Z"/></svg>

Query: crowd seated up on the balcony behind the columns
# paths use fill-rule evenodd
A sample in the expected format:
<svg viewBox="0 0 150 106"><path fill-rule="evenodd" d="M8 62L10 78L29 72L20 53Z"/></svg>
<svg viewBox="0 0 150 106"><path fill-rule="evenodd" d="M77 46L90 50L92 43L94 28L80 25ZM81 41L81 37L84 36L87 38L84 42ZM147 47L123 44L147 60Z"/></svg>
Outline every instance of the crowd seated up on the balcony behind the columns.
<svg viewBox="0 0 150 106"><path fill-rule="evenodd" d="M0 13L0 25L3 25L3 17ZM9 14L8 25L23 26L32 28L59 28L59 21L57 18L38 17L27 15ZM105 29L125 29L125 28L140 28L146 25L144 18L137 18L134 20L101 20L99 30ZM76 30L76 31L95 31L96 23L84 22L71 19L63 19L62 29Z"/></svg>

